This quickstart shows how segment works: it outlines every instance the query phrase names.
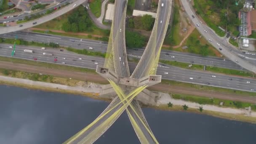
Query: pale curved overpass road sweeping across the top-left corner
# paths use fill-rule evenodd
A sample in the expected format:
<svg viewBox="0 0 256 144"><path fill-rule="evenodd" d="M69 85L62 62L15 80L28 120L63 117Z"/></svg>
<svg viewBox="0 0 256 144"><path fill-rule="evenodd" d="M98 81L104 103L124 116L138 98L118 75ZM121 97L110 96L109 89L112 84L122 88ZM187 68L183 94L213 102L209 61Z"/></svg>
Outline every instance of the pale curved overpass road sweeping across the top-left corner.
<svg viewBox="0 0 256 144"><path fill-rule="evenodd" d="M80 4L82 4L84 2L85 2L85 0L76 0L71 5L67 5L59 11L55 11L47 16L43 16L38 19L34 19L32 21L25 22L22 24L23 25L22 27L19 27L20 25L10 26L10 27L0 27L0 34L15 32L15 31L23 30L23 29L28 29L30 27L35 27L36 25L43 24L46 21L50 21L58 16L63 15L64 13L67 13L68 11L71 11L72 9L76 8L77 6L79 6ZM75 4L76 4L76 6L73 7L73 5L75 5ZM37 24L33 24L33 22L37 22Z"/></svg>

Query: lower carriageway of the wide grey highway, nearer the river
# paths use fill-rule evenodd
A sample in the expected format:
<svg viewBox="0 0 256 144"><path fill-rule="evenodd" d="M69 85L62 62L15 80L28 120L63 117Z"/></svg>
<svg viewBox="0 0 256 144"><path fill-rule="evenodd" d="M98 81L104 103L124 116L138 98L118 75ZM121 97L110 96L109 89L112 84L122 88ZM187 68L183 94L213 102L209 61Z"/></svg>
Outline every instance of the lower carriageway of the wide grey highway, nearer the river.
<svg viewBox="0 0 256 144"><path fill-rule="evenodd" d="M12 48L8 48L11 45L0 45L2 48L0 49L0 56L11 56ZM24 49L31 49L35 51L35 53L24 53ZM53 53L53 56L44 56L43 52ZM104 59L93 56L85 56L79 55L75 53L71 53L68 51L59 51L56 49L47 48L46 50L41 50L40 48L35 48L31 46L16 46L16 54L14 57L20 59L29 59L33 60L37 58L37 61L45 61L45 62L54 62L54 57L58 57L58 61L56 63L61 64L61 62L66 62L66 65L71 65L75 67L86 67L91 69L96 69L95 62L99 65L104 64ZM66 59L63 59L66 58ZM78 58L82 58L79 60ZM75 59L76 61L73 61ZM94 60L94 61L92 61ZM136 67L136 64L129 63L130 71L132 72ZM165 74L168 72L168 74ZM192 71L187 69L181 69L178 67L172 66L160 66L157 68L157 75L162 75L163 79L167 80L176 80L182 81L186 83L198 83L202 85L211 85L216 87L223 88L232 88L243 91L251 91L251 89L256 90L256 80L253 78L245 78L245 77L236 77L229 75L220 75L211 72L200 72L200 71ZM216 76L216 77L213 77ZM193 78L193 79L190 79ZM197 78L198 77L198 78ZM200 78L199 78L200 77ZM232 80L231 80L232 79ZM250 82L250 83L248 83Z"/></svg>

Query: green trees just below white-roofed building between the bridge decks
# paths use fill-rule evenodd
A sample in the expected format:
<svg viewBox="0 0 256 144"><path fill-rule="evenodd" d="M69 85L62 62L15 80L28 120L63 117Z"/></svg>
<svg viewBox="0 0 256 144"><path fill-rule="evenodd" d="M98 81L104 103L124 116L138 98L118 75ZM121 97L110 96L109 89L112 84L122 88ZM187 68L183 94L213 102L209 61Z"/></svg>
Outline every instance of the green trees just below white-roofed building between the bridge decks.
<svg viewBox="0 0 256 144"><path fill-rule="evenodd" d="M151 15L144 15L144 16L136 16L133 18L130 18L128 21L128 27L129 28L135 28L135 29L144 29L144 30L152 30L154 26L155 18L153 18Z"/></svg>

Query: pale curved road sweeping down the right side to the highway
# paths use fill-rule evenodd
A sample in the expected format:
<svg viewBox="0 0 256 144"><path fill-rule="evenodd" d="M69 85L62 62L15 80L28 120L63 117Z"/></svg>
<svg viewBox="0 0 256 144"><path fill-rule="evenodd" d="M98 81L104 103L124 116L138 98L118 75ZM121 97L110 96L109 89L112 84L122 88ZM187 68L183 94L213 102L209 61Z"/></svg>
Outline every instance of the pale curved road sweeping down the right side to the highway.
<svg viewBox="0 0 256 144"><path fill-rule="evenodd" d="M189 0L181 0L181 3L186 13L188 14L188 17L191 19L192 23L195 25L201 35L203 35L203 37L205 37L205 39L208 41L209 39L212 40L209 41L211 45L213 45L224 56L239 64L241 67L244 67L245 69L256 73L256 59L254 56L245 57L245 55L241 51L238 51L236 48L229 45L225 38L217 36L208 26L202 24L196 16L195 11L193 11L192 5L190 5ZM195 18L192 18L192 15L194 15ZM199 26L197 26L197 24L199 24ZM208 32L204 32L205 29ZM219 45L217 45L217 43L219 43ZM222 48L222 50L219 50L219 48Z"/></svg>

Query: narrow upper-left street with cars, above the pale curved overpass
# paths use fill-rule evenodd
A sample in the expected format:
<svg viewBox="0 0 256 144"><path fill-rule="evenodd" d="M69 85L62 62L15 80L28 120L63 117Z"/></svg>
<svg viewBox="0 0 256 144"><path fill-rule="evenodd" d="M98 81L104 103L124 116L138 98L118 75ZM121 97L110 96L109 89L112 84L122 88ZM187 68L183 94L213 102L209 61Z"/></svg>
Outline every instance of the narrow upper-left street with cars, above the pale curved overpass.
<svg viewBox="0 0 256 144"><path fill-rule="evenodd" d="M61 5L64 5L65 3L69 3L69 2L72 2L73 0L63 0L62 2L60 2L58 5L57 5L57 3L56 3L56 5L53 5L53 6L51 6L51 7L49 7L49 8L46 8L46 9L44 9L44 10L41 10L41 11L37 11L37 12L35 12L35 13L23 13L23 14L21 14L20 16L16 16L16 17L11 17L11 18L8 18L8 19L0 19L0 22L6 22L6 21L17 21L17 20L19 20L19 19L24 19L26 16L30 16L30 15L37 15L37 14L44 14L46 11L48 11L48 10L51 10L51 9L53 9L53 8L56 8L56 7L59 7L59 6L61 6ZM10 15L10 14L8 14L8 15Z"/></svg>

